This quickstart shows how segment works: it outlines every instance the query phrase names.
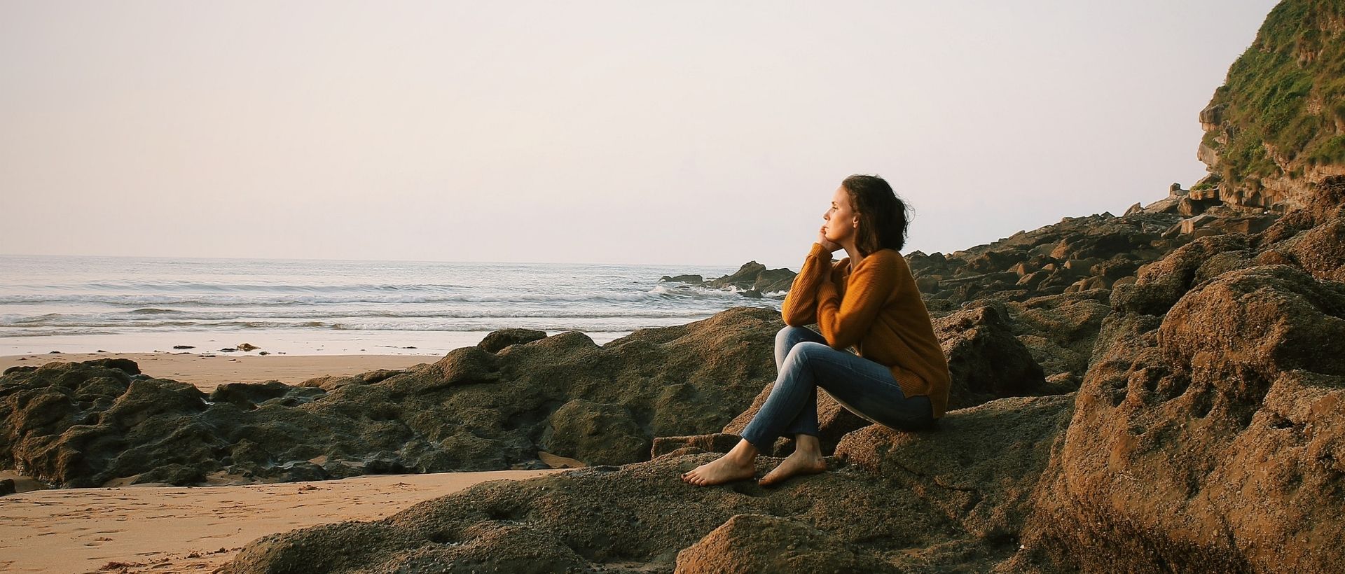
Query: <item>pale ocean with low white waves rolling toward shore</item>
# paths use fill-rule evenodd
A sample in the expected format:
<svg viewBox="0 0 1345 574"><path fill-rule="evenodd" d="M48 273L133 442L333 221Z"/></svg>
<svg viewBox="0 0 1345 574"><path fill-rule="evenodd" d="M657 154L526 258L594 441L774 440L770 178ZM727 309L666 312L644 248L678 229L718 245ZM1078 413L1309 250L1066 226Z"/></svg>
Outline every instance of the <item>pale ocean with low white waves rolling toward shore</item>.
<svg viewBox="0 0 1345 574"><path fill-rule="evenodd" d="M502 328L603 344L783 293L660 284L724 266L0 255L0 355L438 355ZM190 351L174 347L190 347ZM243 354L243 352L238 352Z"/></svg>

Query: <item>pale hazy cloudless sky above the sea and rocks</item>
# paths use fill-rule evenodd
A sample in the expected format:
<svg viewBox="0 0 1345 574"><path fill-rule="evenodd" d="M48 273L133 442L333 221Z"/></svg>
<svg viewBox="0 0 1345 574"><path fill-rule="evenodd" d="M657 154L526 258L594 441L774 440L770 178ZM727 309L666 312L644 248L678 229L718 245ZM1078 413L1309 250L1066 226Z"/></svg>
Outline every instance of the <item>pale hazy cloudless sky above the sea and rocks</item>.
<svg viewBox="0 0 1345 574"><path fill-rule="evenodd" d="M1204 176L1271 0L0 0L0 253L798 270L886 177L912 250Z"/></svg>

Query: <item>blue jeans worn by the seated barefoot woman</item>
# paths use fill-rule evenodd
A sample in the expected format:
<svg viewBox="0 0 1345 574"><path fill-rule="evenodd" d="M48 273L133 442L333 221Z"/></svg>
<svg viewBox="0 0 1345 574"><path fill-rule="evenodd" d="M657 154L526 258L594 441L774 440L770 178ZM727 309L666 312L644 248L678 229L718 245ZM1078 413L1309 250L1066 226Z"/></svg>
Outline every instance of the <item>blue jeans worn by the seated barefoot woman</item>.
<svg viewBox="0 0 1345 574"><path fill-rule="evenodd" d="M775 336L775 367L779 376L771 395L742 438L763 453L784 436L818 436L818 387L872 422L915 430L933 423L929 397L907 398L886 366L849 351L837 351L806 327L785 327Z"/></svg>

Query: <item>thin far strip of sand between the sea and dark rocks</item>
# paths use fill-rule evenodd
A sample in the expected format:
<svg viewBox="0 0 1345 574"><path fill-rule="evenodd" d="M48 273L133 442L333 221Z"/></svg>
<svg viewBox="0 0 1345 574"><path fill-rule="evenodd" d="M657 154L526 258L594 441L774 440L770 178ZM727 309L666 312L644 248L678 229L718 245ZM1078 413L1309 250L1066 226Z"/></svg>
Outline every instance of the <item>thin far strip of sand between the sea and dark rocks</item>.
<svg viewBox="0 0 1345 574"><path fill-rule="evenodd" d="M140 371L163 379L195 384L210 393L223 383L280 380L299 384L313 376L355 375L379 368L406 368L433 363L438 355L239 355L172 352L81 352L0 356L0 371L16 364L40 367L51 362L130 359Z"/></svg>

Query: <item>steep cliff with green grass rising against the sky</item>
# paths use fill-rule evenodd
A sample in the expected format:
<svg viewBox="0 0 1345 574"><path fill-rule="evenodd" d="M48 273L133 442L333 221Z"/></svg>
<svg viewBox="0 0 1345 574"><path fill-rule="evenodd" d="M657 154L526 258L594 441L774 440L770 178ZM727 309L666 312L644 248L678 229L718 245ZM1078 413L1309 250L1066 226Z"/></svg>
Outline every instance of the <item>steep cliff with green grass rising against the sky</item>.
<svg viewBox="0 0 1345 574"><path fill-rule="evenodd" d="M1345 173L1345 5L1286 0L1228 69L1200 113L1192 196L1243 210L1303 207L1323 177Z"/></svg>

